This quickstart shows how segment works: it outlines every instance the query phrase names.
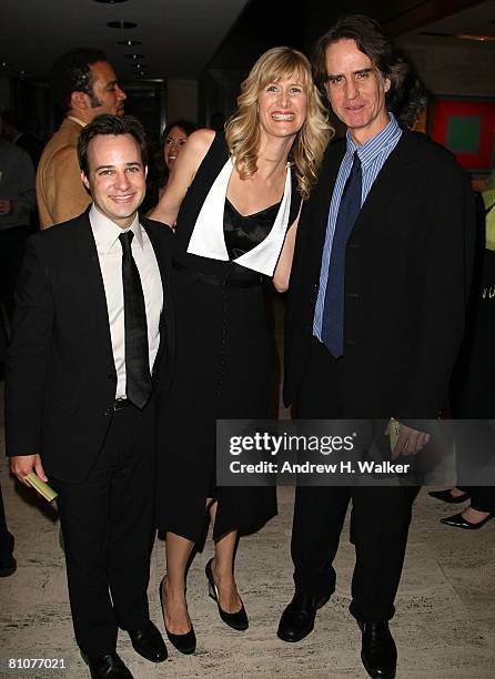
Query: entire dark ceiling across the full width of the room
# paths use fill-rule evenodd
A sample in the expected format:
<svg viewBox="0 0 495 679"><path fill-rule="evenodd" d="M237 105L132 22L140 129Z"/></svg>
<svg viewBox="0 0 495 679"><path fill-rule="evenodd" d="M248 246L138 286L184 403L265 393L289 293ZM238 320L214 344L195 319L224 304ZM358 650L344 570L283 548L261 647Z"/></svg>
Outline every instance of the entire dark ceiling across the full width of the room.
<svg viewBox="0 0 495 679"><path fill-rule="evenodd" d="M392 34L433 47L442 38L420 31L495 36L495 0L304 0L296 13L270 0L112 1L0 0L0 78L21 72L46 78L63 51L95 47L107 52L123 82L137 80L137 61L147 65L145 78L198 79L208 65L248 69L274 44L307 51L344 12L368 13ZM138 27L107 26L121 20ZM127 39L141 44L117 44Z"/></svg>

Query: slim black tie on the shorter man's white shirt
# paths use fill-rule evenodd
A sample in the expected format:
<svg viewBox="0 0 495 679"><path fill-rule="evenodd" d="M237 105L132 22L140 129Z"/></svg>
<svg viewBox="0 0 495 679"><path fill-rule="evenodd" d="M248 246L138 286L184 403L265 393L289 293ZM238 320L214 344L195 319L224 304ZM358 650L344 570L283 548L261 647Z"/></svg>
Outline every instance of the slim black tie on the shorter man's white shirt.
<svg viewBox="0 0 495 679"><path fill-rule="evenodd" d="M147 311L141 278L131 243L132 231L121 233L122 283L124 297L125 327L125 395L131 403L142 409L151 396L150 356L148 352Z"/></svg>

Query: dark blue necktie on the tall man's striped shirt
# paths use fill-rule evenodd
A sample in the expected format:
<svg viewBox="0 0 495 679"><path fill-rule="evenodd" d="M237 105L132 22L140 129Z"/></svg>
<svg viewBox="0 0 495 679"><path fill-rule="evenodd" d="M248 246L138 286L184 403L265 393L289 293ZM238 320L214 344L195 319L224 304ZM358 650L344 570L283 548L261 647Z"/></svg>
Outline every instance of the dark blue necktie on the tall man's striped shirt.
<svg viewBox="0 0 495 679"><path fill-rule="evenodd" d="M335 358L344 353L345 247L360 214L362 184L361 161L357 151L354 151L351 173L345 182L335 223L323 308L322 341Z"/></svg>

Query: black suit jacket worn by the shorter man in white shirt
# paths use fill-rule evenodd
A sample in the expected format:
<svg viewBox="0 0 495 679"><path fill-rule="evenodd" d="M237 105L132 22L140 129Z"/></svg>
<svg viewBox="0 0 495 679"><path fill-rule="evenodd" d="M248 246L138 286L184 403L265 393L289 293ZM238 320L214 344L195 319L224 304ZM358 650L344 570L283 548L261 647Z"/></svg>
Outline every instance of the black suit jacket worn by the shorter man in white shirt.
<svg viewBox="0 0 495 679"><path fill-rule="evenodd" d="M162 398L174 356L173 234L163 224L144 217L140 222L163 284L152 376ZM28 240L6 382L7 454L40 453L48 476L83 480L104 442L117 387L103 278L88 211Z"/></svg>

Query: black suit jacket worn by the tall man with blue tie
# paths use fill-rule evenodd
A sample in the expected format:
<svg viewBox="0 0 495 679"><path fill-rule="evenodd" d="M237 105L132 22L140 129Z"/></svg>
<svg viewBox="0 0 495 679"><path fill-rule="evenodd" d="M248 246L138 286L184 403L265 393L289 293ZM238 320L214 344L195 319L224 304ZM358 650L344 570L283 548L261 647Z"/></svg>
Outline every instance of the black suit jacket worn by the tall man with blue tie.
<svg viewBox="0 0 495 679"><path fill-rule="evenodd" d="M329 148L300 219L286 306L286 404L305 372L330 202L344 153L345 140ZM474 236L473 192L455 159L424 135L404 131L346 247L342 416L438 416L464 328Z"/></svg>

